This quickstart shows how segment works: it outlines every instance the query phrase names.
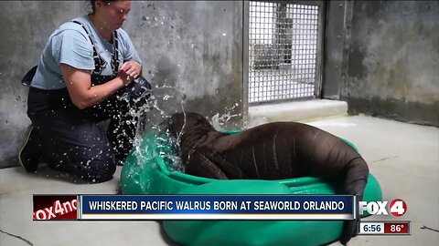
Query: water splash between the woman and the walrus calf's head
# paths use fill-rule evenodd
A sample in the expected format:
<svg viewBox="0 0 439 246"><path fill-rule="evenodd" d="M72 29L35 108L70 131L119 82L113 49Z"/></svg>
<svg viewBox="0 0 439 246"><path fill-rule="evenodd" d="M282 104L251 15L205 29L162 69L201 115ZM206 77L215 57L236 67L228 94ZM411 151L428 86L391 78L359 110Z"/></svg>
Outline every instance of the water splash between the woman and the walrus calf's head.
<svg viewBox="0 0 439 246"><path fill-rule="evenodd" d="M148 94L150 94L149 97ZM120 99L128 102L126 97ZM163 159L166 163L166 169L171 172L185 171L182 159L179 156L179 142L182 132L177 134L177 138L173 138L169 129L164 128L163 123L169 120L174 113L182 112L185 115L182 129L185 128L187 124L186 97L182 95L179 87L166 86L165 84L160 87L155 86L145 95L138 97L135 102L143 102L144 100L146 100L146 103L142 107L128 110L127 115L131 119L123 122L123 124L134 125L136 128L133 139L134 149L131 153L131 155L134 155L136 163L130 163L130 165L135 166L130 167L128 179L133 180L134 185L140 187L141 190L148 190L150 182L145 179L143 179L145 181L141 181L138 177L142 175L142 171L147 165L154 165L152 163L155 163L155 161L152 159L155 157L158 156ZM230 119L241 117L241 114L230 113L237 107L239 107L238 103L231 108L225 108L228 113L217 113L210 118L214 128L220 131L225 130L225 126L228 125ZM152 132L156 133L155 139L153 139L154 144L152 144L151 139L145 138L147 134Z"/></svg>

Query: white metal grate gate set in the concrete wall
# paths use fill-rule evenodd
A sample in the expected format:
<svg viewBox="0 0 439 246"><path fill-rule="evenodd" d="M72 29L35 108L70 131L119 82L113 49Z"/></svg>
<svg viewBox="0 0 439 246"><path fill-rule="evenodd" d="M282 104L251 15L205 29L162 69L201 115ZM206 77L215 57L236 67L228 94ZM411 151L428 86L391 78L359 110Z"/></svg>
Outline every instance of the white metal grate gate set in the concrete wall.
<svg viewBox="0 0 439 246"><path fill-rule="evenodd" d="M250 2L249 103L318 95L320 8Z"/></svg>

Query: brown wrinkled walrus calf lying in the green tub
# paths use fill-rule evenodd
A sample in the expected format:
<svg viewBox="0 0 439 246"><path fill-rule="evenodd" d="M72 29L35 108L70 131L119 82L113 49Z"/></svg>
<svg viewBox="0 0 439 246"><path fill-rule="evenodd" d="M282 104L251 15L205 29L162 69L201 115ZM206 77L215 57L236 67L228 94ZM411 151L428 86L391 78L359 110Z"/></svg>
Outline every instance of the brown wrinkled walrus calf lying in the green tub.
<svg viewBox="0 0 439 246"><path fill-rule="evenodd" d="M274 122L221 133L203 116L174 114L168 128L179 142L186 173L212 179L292 179L319 177L342 180L343 192L363 198L369 168L359 153L336 136L297 122ZM357 232L345 222L340 242Z"/></svg>

